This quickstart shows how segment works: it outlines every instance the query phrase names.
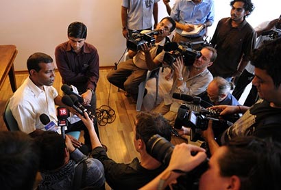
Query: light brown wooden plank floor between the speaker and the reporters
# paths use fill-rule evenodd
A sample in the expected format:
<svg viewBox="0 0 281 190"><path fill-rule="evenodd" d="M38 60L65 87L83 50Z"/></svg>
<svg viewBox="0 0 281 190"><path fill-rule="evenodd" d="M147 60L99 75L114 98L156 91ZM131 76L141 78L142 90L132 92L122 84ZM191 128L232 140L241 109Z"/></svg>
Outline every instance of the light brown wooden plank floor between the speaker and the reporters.
<svg viewBox="0 0 281 190"><path fill-rule="evenodd" d="M97 85L97 107L107 105L115 111L116 119L111 124L106 126L99 126L99 135L102 144L108 146L108 156L117 162L129 163L137 157L138 154L133 146L133 132L134 119L136 116L136 104L132 103L131 98L124 96L122 91L118 92L117 87L114 87L108 83L106 74L110 69L101 69L99 83ZM159 96L157 103L160 103L163 99L163 94L169 92L171 87L171 81L166 81L164 76L169 72L165 69L164 72L160 73L160 86ZM16 74L16 83L19 87L21 83L28 77L28 74ZM62 85L61 77L56 72L56 81L53 84L58 90L59 94L62 95L60 87ZM148 94L143 99L143 111L150 111L154 107L155 93L156 93L156 81L151 79L147 82ZM5 84L0 90L0 113L3 115L3 109L5 103L12 96L12 90L10 87L10 81L7 78ZM103 106L104 107L104 106ZM103 108L101 107L101 108ZM3 118L0 117L0 131L7 131ZM178 143L182 139L173 137L173 143Z"/></svg>

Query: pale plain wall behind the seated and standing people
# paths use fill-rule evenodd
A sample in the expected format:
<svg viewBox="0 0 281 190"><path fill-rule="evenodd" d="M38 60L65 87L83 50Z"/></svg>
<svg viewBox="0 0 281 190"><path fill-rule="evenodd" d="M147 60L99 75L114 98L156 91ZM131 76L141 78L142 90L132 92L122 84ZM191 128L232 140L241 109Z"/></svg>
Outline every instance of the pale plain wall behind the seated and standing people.
<svg viewBox="0 0 281 190"><path fill-rule="evenodd" d="M171 0L171 5L175 0ZM256 27L262 21L278 18L280 0L270 3L252 0L256 6L247 21ZM121 0L0 0L0 44L15 44L19 50L16 70L26 70L26 60L34 52L43 52L54 58L54 49L67 40L66 29L73 21L88 27L90 44L99 51L100 66L111 66L125 50L121 35ZM230 1L215 0L215 23L230 16ZM167 16L160 0L159 21Z"/></svg>

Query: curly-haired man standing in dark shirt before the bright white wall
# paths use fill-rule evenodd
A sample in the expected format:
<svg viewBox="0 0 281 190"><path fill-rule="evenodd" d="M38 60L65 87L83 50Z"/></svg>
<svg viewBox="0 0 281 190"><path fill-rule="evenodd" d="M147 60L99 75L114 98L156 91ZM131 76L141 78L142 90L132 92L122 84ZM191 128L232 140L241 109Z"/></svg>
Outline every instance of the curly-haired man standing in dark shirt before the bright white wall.
<svg viewBox="0 0 281 190"><path fill-rule="evenodd" d="M217 59L208 68L214 77L223 77L227 81L241 75L256 42L256 32L245 20L254 10L251 0L234 0L230 5L231 17L222 18L212 36Z"/></svg>

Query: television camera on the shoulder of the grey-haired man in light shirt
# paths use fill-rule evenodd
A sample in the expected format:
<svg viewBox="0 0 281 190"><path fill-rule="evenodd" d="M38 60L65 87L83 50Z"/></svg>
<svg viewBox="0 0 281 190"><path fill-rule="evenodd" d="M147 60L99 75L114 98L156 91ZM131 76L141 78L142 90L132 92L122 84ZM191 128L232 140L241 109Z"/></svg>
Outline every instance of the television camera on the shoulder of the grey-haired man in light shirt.
<svg viewBox="0 0 281 190"><path fill-rule="evenodd" d="M188 42L188 43L180 43L177 42L169 42L164 45L164 62L166 62L169 66L171 66L177 57L182 56L184 59L185 66L193 65L193 62L196 58L201 57L201 52L192 49L193 44L204 44L205 41L199 42Z"/></svg>

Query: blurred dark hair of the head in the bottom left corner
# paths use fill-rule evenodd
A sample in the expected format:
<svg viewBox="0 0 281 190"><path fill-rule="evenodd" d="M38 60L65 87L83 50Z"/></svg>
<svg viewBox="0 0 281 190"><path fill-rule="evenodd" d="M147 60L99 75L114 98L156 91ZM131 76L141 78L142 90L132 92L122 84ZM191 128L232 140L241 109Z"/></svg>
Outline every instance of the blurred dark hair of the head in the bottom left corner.
<svg viewBox="0 0 281 190"><path fill-rule="evenodd" d="M33 189L39 148L21 131L0 132L1 189Z"/></svg>

